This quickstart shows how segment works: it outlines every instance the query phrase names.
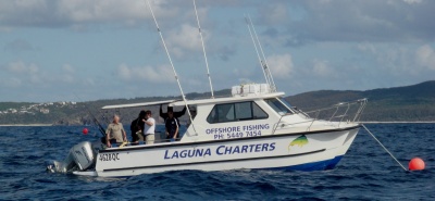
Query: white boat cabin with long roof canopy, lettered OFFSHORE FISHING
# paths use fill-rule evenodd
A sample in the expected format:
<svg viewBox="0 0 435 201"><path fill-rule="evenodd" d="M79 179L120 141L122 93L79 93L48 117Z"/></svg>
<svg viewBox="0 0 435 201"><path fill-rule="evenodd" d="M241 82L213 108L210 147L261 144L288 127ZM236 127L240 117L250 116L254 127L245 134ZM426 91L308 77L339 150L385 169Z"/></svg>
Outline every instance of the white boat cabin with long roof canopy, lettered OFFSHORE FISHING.
<svg viewBox="0 0 435 201"><path fill-rule="evenodd" d="M109 105L102 109L159 105L195 108L188 112L188 128L179 142L213 141L257 136L334 129L339 122L319 121L291 106L284 92L271 92L266 84L232 88L231 97L199 100ZM159 141L157 141L159 142ZM179 143L177 141L177 143Z"/></svg>

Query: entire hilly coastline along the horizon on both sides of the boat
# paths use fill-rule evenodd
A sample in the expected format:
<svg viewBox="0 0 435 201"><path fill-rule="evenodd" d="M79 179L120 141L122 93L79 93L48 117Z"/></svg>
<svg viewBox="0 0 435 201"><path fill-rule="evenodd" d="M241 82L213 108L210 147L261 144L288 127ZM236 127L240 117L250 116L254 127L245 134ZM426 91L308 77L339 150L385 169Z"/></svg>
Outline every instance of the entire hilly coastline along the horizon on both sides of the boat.
<svg viewBox="0 0 435 201"><path fill-rule="evenodd" d="M229 89L216 91L215 96L228 96ZM210 97L206 93L188 93L187 99ZM435 80L413 86L356 90L321 90L286 97L295 106L303 111L313 111L338 102L369 99L369 104L361 121L374 122L418 122L435 121ZM120 113L124 124L134 120L139 109L123 109L121 111L101 111L108 104L124 104L159 100L181 99L181 97L148 97L135 99L98 100L88 102L53 102L26 103L0 102L0 124L54 124L83 125L92 124L90 111L102 123L107 124L114 112ZM159 106L147 108L157 116ZM176 109L181 110L181 109ZM182 121L186 121L182 118Z"/></svg>

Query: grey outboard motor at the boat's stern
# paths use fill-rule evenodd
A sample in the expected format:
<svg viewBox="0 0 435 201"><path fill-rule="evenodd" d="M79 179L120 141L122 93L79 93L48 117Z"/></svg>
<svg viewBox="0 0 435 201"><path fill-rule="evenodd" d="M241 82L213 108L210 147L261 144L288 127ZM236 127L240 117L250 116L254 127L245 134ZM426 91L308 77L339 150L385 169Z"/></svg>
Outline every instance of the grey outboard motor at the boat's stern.
<svg viewBox="0 0 435 201"><path fill-rule="evenodd" d="M97 153L92 150L92 145L89 141L77 143L71 148L69 155L63 162L54 161L54 165L49 165L47 169L60 173L85 171L95 164Z"/></svg>

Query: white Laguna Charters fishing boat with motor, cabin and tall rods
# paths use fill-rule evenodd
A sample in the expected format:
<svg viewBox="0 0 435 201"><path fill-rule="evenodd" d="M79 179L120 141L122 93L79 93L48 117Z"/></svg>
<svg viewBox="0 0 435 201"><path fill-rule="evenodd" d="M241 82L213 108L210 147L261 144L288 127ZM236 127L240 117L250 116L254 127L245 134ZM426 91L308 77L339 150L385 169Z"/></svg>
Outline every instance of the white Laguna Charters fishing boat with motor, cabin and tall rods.
<svg viewBox="0 0 435 201"><path fill-rule="evenodd" d="M160 33L159 27L158 30ZM163 40L161 33L160 36ZM258 45L262 52L261 45ZM167 49L166 53L169 55ZM49 169L80 176L128 177L183 169L334 168L361 127L359 120L366 99L303 112L288 103L284 92L276 90L263 61L265 58L260 63L266 83L233 86L232 95L227 97L217 98L212 93L212 97L204 99L187 100L177 79L183 100L102 108L110 110L160 104L187 106L189 110L195 108L196 115L187 111L191 124L179 141L112 148L107 148L101 140L85 141L74 146L63 162L54 163ZM175 68L174 74L177 78ZM104 133L101 126L100 130Z"/></svg>

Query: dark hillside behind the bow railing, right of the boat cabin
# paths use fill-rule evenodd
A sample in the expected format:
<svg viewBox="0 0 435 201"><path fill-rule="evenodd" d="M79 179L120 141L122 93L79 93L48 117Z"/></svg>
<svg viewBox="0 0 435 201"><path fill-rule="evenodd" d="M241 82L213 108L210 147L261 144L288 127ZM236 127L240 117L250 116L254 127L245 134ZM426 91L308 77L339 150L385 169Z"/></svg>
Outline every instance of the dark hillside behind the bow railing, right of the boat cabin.
<svg viewBox="0 0 435 201"><path fill-rule="evenodd" d="M286 99L303 111L311 111L362 98L368 98L369 104L361 121L435 121L435 80L366 91L321 90Z"/></svg>

